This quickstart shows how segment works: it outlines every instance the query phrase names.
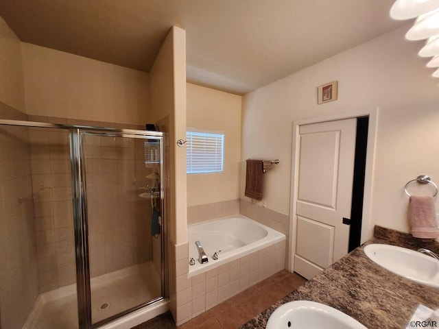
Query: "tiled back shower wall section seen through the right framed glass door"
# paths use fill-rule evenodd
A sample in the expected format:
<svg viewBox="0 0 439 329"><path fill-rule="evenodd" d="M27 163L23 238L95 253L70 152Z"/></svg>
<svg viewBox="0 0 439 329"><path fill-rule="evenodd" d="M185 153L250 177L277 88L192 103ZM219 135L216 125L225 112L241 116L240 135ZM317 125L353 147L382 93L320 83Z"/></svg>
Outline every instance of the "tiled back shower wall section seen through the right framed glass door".
<svg viewBox="0 0 439 329"><path fill-rule="evenodd" d="M91 276L152 260L151 199L139 197L145 192L139 188L152 186L146 175L160 169L145 169L145 141L86 136L85 142Z"/></svg>

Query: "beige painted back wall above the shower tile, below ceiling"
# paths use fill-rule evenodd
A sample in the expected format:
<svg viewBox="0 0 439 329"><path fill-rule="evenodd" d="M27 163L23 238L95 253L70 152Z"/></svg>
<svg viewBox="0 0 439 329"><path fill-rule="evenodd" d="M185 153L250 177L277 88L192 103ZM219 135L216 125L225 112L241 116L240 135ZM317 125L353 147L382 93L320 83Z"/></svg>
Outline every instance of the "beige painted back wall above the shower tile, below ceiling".
<svg viewBox="0 0 439 329"><path fill-rule="evenodd" d="M28 114L145 124L148 74L23 42Z"/></svg>

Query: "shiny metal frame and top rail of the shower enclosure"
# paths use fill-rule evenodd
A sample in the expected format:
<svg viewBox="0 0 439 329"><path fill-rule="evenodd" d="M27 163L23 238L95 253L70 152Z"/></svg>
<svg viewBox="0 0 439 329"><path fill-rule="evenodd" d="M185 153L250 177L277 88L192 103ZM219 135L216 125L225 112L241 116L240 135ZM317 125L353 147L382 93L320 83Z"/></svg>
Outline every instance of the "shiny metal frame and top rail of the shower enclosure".
<svg viewBox="0 0 439 329"><path fill-rule="evenodd" d="M62 130L69 130L70 141L70 162L71 162L71 175L72 175L72 201L73 201L73 226L75 232L75 267L76 267L76 286L78 297L78 320L79 329L93 329L104 324L108 324L110 321L123 317L132 313L134 310L139 310L145 306L149 306L156 302L165 300L165 244L161 241L161 297L157 297L153 300L129 308L117 315L113 315L98 321L93 324L91 320L91 284L90 284L90 269L88 262L88 232L87 232L87 215L86 215L86 195L85 184L82 184L82 176L84 175L84 167L81 163L83 158L82 146L80 145L80 132L100 132L102 136L121 136L130 138L153 137L162 139L161 143L161 202L163 202L163 132L154 132L149 130L131 130L131 129L119 129L110 127L93 127L87 125L64 125L58 123L43 123L36 121L21 121L21 120L8 120L0 119L0 125L13 125L24 127L40 127L40 128L56 128ZM164 223L163 232L165 231Z"/></svg>

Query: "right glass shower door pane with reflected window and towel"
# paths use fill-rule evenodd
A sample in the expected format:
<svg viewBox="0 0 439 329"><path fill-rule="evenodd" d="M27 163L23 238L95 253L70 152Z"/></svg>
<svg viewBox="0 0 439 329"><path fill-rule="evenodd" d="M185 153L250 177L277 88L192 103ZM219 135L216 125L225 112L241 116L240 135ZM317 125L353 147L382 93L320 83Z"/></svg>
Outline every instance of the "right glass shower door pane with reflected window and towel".
<svg viewBox="0 0 439 329"><path fill-rule="evenodd" d="M162 139L81 132L93 326L163 296Z"/></svg>

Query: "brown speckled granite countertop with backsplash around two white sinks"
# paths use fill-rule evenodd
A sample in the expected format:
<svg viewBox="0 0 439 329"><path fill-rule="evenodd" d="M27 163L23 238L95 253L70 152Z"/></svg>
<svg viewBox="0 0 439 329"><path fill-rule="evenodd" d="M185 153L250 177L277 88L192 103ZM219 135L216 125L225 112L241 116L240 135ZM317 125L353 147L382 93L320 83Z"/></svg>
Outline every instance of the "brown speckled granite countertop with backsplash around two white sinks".
<svg viewBox="0 0 439 329"><path fill-rule="evenodd" d="M385 243L410 249L425 247L439 253L439 243L423 242L410 234L375 227L375 237L364 243ZM409 324L418 304L439 307L439 289L426 287L383 269L363 252L364 245L313 277L283 300L254 317L241 329L265 328L270 315L282 304L311 300L350 315L364 326L401 329Z"/></svg>

